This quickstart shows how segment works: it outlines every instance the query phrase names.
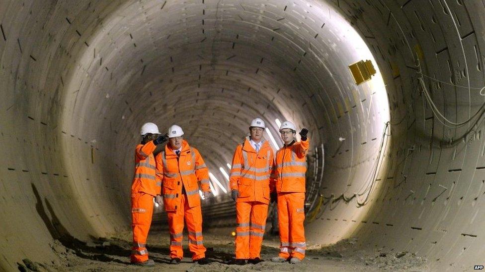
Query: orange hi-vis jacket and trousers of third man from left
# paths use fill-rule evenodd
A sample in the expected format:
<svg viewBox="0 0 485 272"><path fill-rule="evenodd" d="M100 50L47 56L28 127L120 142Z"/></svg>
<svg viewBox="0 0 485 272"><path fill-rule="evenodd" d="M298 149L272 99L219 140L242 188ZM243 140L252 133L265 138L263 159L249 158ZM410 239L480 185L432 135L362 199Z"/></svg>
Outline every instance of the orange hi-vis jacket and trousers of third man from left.
<svg viewBox="0 0 485 272"><path fill-rule="evenodd" d="M260 258L269 204L269 175L274 165L273 150L262 141L259 152L246 138L233 157L232 190L239 191L236 201L236 259Z"/></svg>

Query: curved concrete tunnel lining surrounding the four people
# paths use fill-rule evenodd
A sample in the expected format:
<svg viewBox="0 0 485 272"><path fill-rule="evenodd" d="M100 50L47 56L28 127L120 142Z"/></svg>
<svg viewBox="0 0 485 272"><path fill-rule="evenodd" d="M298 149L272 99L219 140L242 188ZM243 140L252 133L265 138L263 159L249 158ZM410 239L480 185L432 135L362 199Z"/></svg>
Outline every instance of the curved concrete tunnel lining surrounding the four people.
<svg viewBox="0 0 485 272"><path fill-rule="evenodd" d="M255 117L274 150L280 122L310 131L309 245L483 265L483 14L483 0L1 1L1 270L55 259L63 235L130 229L148 121L204 157L204 226L234 226L228 164ZM361 60L377 72L356 84Z"/></svg>

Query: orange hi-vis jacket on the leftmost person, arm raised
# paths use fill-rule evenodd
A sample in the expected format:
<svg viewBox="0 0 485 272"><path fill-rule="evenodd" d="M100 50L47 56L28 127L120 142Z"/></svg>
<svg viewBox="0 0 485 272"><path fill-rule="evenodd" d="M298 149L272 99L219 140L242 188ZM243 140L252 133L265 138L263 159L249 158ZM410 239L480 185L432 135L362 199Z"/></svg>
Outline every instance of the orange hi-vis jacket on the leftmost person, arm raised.
<svg viewBox="0 0 485 272"><path fill-rule="evenodd" d="M152 196L160 194L161 183L155 176L155 158L153 152L156 145L153 141L145 145L139 144L135 150L135 176L131 185L131 193L144 192Z"/></svg>

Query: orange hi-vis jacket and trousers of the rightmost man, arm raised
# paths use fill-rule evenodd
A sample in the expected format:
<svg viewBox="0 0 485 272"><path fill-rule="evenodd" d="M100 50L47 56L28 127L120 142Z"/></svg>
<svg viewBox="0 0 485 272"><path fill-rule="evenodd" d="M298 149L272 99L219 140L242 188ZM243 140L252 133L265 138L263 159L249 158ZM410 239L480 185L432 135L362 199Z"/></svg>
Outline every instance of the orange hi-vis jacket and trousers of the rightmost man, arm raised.
<svg viewBox="0 0 485 272"><path fill-rule="evenodd" d="M285 259L305 258L305 173L309 139L293 142L276 152L272 178L276 179L278 192L278 225L280 253Z"/></svg>

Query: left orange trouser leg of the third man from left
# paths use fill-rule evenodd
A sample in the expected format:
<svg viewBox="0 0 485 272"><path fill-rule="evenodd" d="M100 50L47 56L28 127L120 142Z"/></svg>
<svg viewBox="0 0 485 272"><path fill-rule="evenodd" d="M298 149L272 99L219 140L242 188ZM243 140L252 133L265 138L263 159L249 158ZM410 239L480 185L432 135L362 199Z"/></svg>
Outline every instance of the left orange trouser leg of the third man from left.
<svg viewBox="0 0 485 272"><path fill-rule="evenodd" d="M250 202L236 202L236 259L249 259Z"/></svg>

